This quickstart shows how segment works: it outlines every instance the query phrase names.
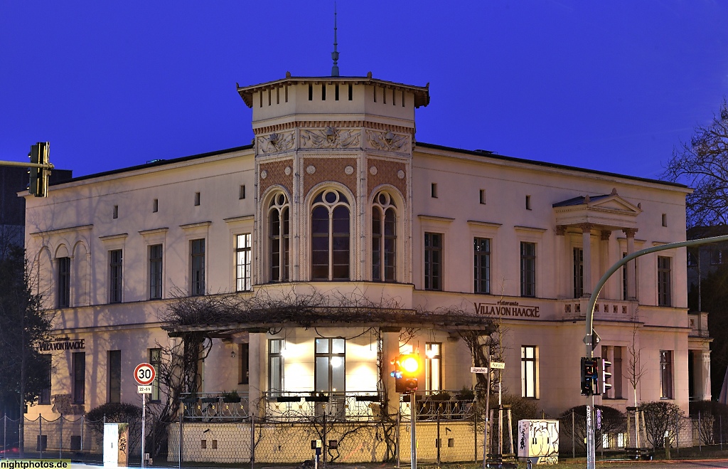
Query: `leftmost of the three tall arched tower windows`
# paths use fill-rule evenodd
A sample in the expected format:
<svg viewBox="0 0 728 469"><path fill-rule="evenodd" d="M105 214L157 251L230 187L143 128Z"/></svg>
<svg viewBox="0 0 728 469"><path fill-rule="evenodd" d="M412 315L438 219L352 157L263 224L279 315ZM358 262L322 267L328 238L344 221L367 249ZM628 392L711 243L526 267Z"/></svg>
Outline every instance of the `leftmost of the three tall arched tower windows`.
<svg viewBox="0 0 728 469"><path fill-rule="evenodd" d="M290 259L290 208L285 194L275 194L268 206L268 241L270 245L270 281L286 282L289 280L288 265Z"/></svg>

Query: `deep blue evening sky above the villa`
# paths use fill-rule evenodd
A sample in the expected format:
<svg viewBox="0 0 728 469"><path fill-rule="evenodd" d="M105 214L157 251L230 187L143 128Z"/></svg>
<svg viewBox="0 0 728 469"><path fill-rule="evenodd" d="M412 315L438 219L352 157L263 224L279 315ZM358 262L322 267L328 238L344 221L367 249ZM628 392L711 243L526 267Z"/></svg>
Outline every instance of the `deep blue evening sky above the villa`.
<svg viewBox="0 0 728 469"><path fill-rule="evenodd" d="M339 0L342 75L418 141L657 177L728 95L727 1ZM241 85L331 74L333 0L4 1L0 159L83 176L250 143Z"/></svg>

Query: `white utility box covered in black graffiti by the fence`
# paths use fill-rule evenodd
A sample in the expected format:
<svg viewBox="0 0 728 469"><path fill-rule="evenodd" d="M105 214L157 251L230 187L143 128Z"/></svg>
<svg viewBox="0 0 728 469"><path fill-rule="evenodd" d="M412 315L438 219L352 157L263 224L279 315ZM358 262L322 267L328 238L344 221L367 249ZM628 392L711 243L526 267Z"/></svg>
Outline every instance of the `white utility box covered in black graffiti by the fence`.
<svg viewBox="0 0 728 469"><path fill-rule="evenodd" d="M558 420L518 420L518 460L558 462Z"/></svg>

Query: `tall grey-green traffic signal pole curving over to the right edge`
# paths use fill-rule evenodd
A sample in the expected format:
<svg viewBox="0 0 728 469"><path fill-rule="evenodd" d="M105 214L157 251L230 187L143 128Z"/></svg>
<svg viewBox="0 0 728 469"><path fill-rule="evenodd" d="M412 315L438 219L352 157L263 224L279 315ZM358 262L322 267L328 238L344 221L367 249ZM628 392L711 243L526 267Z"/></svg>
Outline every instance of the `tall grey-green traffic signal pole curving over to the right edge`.
<svg viewBox="0 0 728 469"><path fill-rule="evenodd" d="M711 244L711 243L720 243L721 241L728 241L728 234L724 234L723 236L715 236L715 237L708 237L703 238L700 240L689 240L689 241L681 241L679 243L668 243L663 244L659 246L652 246L652 248L646 248L641 249L640 251L635 251L628 256L623 257L620 259L620 261L617 261L612 267L609 267L609 269L604 273L604 275L601 276L599 281L597 282L596 286L594 287L594 290L592 291L592 294L589 298L589 305L587 306L586 311L586 336L584 338L584 343L586 344L586 357L587 358L593 358L593 349L592 349L592 331L594 330L594 305L596 304L596 299L599 296L599 292L602 288L604 288L604 285L606 284L606 281L609 280L609 277L612 277L614 272L617 272L623 265L627 264L629 261L636 259L640 256L644 256L645 254L650 253L656 253L659 251L667 251L668 249L676 249L676 248L689 248L690 246L699 246L699 245L705 245L705 244ZM587 398L588 402L588 398ZM596 465L596 457L595 457L595 443L594 443L594 395L591 395L591 405L587 403L587 469L595 469Z"/></svg>

